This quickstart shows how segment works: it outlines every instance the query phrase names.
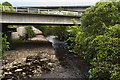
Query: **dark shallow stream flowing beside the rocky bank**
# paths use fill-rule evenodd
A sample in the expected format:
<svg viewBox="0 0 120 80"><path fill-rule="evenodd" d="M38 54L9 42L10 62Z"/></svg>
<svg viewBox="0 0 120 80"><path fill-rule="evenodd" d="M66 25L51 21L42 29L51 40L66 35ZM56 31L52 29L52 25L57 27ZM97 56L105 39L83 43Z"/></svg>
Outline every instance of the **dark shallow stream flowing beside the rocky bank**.
<svg viewBox="0 0 120 80"><path fill-rule="evenodd" d="M58 36L50 35L47 36L46 39L52 42L52 46L55 49L55 55L63 67L50 76L54 76L53 78L88 79L89 65L82 57L75 53L70 53L67 49L67 43L60 41Z"/></svg>

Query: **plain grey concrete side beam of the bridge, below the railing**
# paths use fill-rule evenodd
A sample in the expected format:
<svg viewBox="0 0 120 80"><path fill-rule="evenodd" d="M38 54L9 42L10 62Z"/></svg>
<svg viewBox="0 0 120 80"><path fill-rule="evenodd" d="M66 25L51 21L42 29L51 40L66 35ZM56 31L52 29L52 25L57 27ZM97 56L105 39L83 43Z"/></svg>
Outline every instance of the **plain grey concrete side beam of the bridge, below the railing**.
<svg viewBox="0 0 120 80"><path fill-rule="evenodd" d="M80 24L81 16L57 15L57 14L38 14L1 11L2 24L45 24L45 25L73 25L72 19Z"/></svg>

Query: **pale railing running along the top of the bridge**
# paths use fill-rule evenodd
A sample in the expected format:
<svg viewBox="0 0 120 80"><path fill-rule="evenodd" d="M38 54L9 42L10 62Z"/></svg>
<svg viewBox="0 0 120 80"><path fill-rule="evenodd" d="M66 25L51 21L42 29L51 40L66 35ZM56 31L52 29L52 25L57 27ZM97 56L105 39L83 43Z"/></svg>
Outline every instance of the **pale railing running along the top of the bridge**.
<svg viewBox="0 0 120 80"><path fill-rule="evenodd" d="M21 13L38 13L38 14L56 14L56 15L74 15L81 16L84 11L65 11L65 10L53 10L53 9L38 9L38 8L26 8L26 7L12 7L1 6L0 11L21 12Z"/></svg>

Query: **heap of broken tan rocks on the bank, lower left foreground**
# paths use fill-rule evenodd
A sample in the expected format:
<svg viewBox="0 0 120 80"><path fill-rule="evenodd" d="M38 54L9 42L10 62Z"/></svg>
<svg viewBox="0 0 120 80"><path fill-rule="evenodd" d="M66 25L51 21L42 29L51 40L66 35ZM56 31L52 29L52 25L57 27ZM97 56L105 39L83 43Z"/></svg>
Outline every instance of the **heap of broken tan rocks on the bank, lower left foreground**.
<svg viewBox="0 0 120 80"><path fill-rule="evenodd" d="M16 59L11 63L4 60L4 63L7 64L2 67L2 79L30 78L54 72L55 67L58 65L58 60L55 58L51 59L48 57L50 55L46 54L47 53L41 53L38 56L28 56L26 58L21 58L20 60Z"/></svg>

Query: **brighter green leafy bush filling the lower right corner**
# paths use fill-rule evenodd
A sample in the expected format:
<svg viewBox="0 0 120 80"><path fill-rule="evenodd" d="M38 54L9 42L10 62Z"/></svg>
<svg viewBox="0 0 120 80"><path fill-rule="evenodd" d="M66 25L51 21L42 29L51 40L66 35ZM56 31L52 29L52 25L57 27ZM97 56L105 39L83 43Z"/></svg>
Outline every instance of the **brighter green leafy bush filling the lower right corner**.
<svg viewBox="0 0 120 80"><path fill-rule="evenodd" d="M110 26L104 35L89 42L90 78L120 79L120 25ZM97 70L96 70L97 69Z"/></svg>

